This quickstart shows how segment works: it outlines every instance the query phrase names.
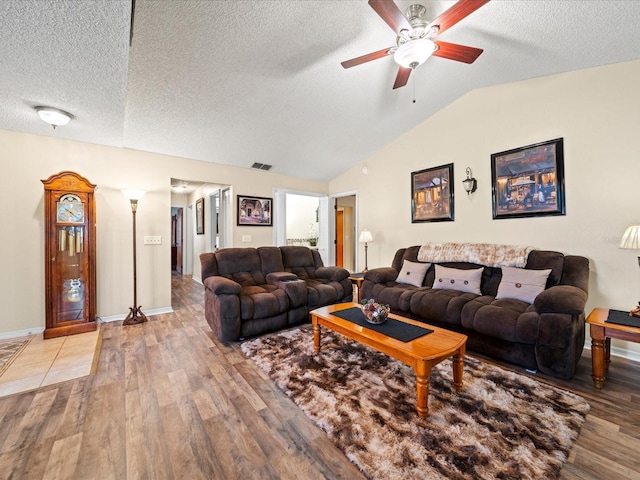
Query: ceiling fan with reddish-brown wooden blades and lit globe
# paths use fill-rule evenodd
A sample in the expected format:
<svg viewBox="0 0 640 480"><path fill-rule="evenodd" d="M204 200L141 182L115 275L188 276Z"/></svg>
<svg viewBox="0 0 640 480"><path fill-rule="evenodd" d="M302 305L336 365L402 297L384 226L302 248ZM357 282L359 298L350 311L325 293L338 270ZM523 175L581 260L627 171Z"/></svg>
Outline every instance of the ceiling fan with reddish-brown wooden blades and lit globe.
<svg viewBox="0 0 640 480"><path fill-rule="evenodd" d="M427 9L423 5L411 5L407 8L405 16L393 0L369 0L371 8L396 33L397 45L346 60L341 65L351 68L393 54L393 59L400 65L393 84L393 88L396 89L404 87L409 81L411 70L424 63L431 55L473 63L482 53L482 49L441 42L434 38L488 2L489 0L459 0L449 10L428 23L424 18Z"/></svg>

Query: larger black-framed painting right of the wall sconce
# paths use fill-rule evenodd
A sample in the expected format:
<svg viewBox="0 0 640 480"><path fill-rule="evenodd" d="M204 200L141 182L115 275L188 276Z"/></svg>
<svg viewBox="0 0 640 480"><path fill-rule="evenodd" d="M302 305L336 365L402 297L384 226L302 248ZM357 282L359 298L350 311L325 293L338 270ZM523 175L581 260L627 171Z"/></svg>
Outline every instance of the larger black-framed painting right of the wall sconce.
<svg viewBox="0 0 640 480"><path fill-rule="evenodd" d="M494 219L565 214L562 141L491 155Z"/></svg>

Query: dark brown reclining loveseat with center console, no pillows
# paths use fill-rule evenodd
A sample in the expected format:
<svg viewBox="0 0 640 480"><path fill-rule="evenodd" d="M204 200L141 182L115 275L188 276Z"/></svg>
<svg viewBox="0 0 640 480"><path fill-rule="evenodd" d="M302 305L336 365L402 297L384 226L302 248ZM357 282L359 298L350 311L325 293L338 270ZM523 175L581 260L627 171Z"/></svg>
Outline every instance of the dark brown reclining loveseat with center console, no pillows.
<svg viewBox="0 0 640 480"><path fill-rule="evenodd" d="M299 246L225 248L200 255L205 317L223 341L272 332L353 298L349 272Z"/></svg>

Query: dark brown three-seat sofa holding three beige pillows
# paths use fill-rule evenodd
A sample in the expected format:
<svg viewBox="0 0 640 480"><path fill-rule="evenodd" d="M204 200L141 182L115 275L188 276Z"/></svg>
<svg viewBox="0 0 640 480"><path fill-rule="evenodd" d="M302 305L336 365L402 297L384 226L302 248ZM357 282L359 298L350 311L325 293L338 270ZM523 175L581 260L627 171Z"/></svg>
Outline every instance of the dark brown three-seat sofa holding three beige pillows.
<svg viewBox="0 0 640 480"><path fill-rule="evenodd" d="M544 291L528 303L496 299L500 267L464 261L438 264L465 270L483 267L480 294L434 289L433 264L421 286L398 283L405 260L420 263L419 250L419 246L401 248L391 267L369 270L362 297L388 303L394 313L462 332L469 337L470 350L555 377L573 376L585 340L586 258L532 250L524 268L551 273Z"/></svg>

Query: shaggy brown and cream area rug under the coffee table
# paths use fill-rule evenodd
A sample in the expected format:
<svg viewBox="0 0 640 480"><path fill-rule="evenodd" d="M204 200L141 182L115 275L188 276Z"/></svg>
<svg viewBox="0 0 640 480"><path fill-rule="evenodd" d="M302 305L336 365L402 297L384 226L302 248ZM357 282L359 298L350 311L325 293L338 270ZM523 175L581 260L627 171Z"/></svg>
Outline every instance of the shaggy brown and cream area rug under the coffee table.
<svg viewBox="0 0 640 480"><path fill-rule="evenodd" d="M310 325L242 351L369 478L556 478L589 411L578 395L465 357L462 391L449 360L431 373L429 415L416 414L410 367Z"/></svg>

